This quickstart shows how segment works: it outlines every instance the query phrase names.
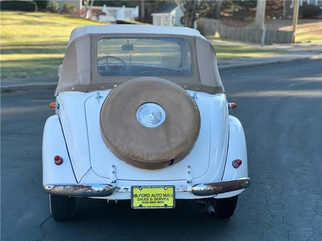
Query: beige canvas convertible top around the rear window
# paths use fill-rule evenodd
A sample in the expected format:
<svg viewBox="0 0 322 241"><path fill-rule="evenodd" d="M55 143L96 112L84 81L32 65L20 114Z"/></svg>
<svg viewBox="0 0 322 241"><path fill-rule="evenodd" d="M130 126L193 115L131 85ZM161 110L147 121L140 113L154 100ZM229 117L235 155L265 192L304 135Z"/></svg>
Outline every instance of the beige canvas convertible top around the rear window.
<svg viewBox="0 0 322 241"><path fill-rule="evenodd" d="M98 41L113 37L181 38L190 46L192 75L157 76L185 89L215 94L223 92L216 53L199 31L152 25L101 25L76 28L71 32L55 95L62 91L90 92L111 89L138 76L103 76L98 72Z"/></svg>

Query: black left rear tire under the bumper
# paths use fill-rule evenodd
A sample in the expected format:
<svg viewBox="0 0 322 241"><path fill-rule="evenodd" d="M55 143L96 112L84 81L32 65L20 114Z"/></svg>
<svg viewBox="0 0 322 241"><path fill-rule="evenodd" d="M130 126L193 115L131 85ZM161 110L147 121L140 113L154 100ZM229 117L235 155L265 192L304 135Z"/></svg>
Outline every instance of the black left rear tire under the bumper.
<svg viewBox="0 0 322 241"><path fill-rule="evenodd" d="M71 220L76 209L76 198L49 194L50 214L56 221Z"/></svg>

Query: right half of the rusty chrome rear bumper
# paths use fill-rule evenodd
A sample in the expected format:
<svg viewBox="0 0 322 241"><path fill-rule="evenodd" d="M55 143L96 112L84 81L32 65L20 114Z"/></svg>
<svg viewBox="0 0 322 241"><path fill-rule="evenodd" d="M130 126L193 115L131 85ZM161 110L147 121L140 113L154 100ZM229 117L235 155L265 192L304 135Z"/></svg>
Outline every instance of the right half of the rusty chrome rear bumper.
<svg viewBox="0 0 322 241"><path fill-rule="evenodd" d="M216 195L225 192L236 191L251 185L250 178L239 178L219 182L197 184L192 187L192 193L196 196Z"/></svg>

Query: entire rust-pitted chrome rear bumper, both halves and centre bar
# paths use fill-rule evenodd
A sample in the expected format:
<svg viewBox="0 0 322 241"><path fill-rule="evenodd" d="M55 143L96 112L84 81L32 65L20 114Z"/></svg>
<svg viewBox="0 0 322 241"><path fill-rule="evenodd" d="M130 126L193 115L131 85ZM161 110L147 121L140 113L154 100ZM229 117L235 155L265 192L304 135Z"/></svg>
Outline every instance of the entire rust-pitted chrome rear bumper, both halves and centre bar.
<svg viewBox="0 0 322 241"><path fill-rule="evenodd" d="M194 186L176 187L176 192L192 192L196 196L211 196L247 188L249 178L209 182ZM44 191L54 195L75 197L107 197L114 192L130 192L130 186L112 186L110 184L45 184Z"/></svg>

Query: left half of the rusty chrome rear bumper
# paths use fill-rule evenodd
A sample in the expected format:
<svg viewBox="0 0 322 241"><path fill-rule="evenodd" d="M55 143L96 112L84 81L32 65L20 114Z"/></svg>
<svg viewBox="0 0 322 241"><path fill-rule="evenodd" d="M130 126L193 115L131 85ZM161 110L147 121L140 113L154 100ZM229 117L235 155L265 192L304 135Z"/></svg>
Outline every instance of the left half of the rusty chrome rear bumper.
<svg viewBox="0 0 322 241"><path fill-rule="evenodd" d="M105 197L113 194L109 184L45 184L44 191L54 195L75 197Z"/></svg>

